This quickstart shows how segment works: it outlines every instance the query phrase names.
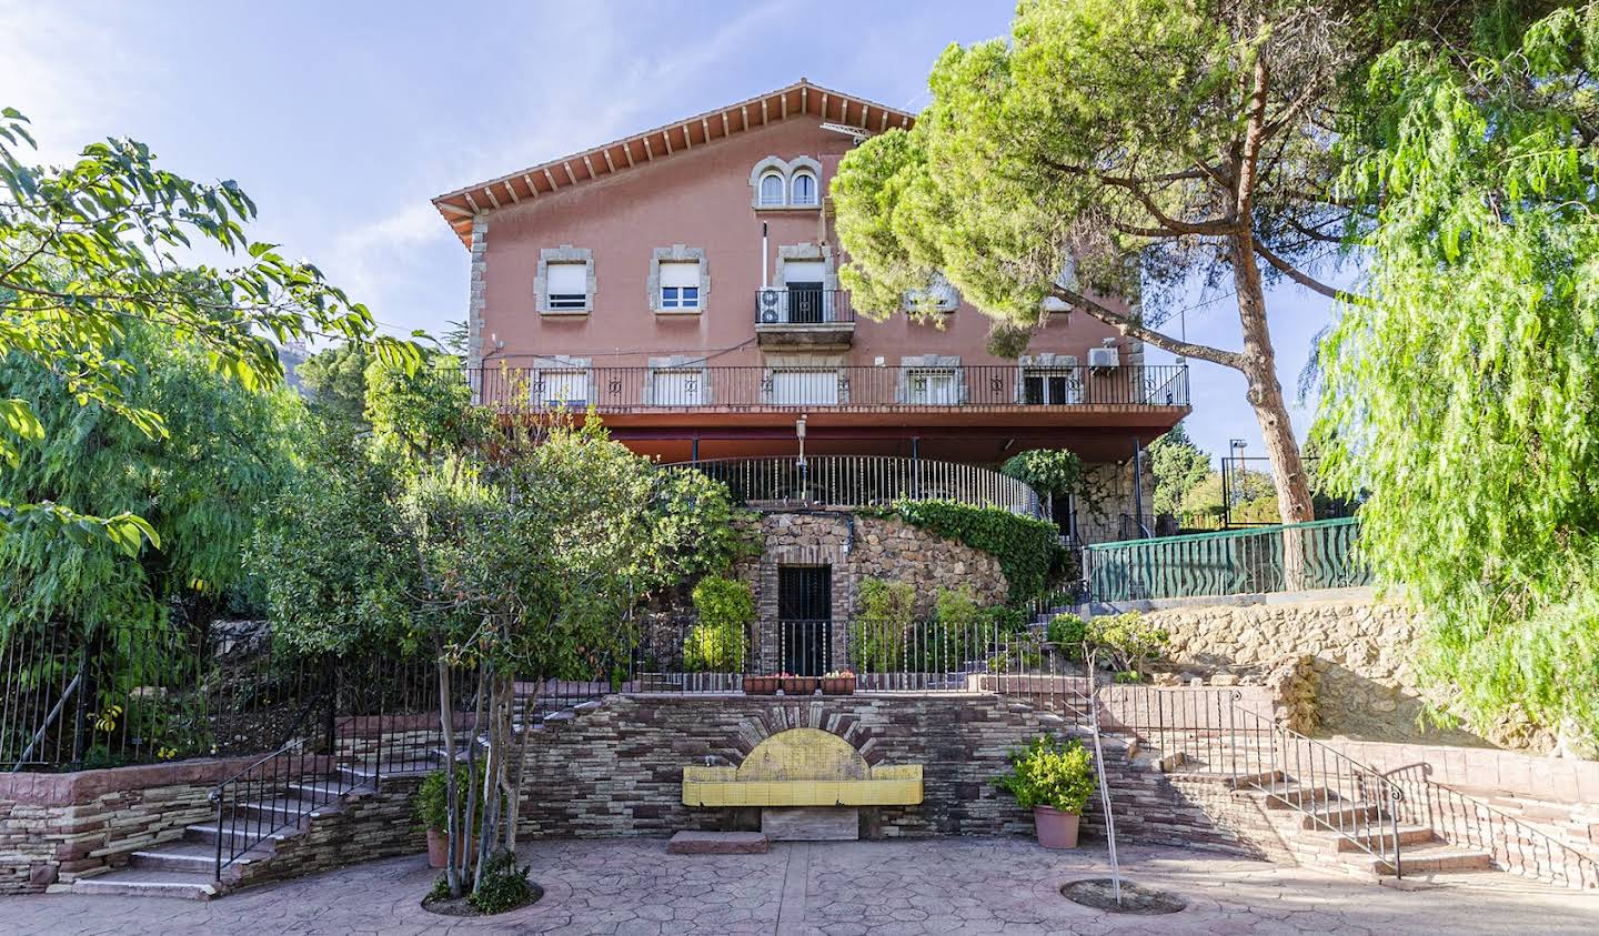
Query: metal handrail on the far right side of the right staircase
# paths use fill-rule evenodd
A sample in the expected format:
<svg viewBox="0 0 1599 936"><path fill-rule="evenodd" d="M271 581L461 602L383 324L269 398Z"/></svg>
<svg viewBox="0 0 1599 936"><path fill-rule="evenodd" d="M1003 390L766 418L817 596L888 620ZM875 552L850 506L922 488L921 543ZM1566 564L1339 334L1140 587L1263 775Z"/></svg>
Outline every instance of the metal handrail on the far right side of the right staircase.
<svg viewBox="0 0 1599 936"><path fill-rule="evenodd" d="M1420 771L1422 776L1420 778L1402 776L1401 779L1394 779L1399 774L1412 774L1414 771ZM1527 822L1522 822L1521 819L1511 816L1509 813L1500 810L1498 806L1493 806L1484 800L1466 795L1450 786L1434 781L1431 763L1426 762L1407 763L1404 766L1396 766L1390 771L1385 771L1383 776L1396 784L1414 787L1412 792L1422 794L1420 798L1415 795L1409 795L1406 798L1409 810L1407 819L1417 824L1425 824L1445 842L1465 840L1465 843L1474 848L1482 848L1493 856L1493 861L1500 862L1500 866L1505 870L1509 870L1511 874L1521 874L1524 877L1532 877L1535 880L1541 880L1546 883L1572 886L1572 888L1585 888L1585 890L1599 888L1599 859L1583 854L1577 848L1572 848L1570 845L1561 842L1559 838L1549 835L1548 832L1543 832L1540 829L1529 826ZM1449 816L1434 816L1433 811L1434 798L1442 798L1442 797L1457 800L1458 803L1469 806L1473 811L1479 814L1485 813L1490 818L1487 822L1489 826L1487 834L1485 835L1481 834L1479 827L1469 822L1458 826L1453 822L1447 822L1447 819L1457 814L1455 811L1450 811ZM1425 816L1422 813L1423 808L1426 810ZM1439 810L1439 813L1442 813L1442 810ZM1493 834L1495 821L1501 829L1514 829L1514 835L1509 834L1495 835ZM1511 848L1511 843L1517 840L1540 843L1541 853L1546 856L1546 861L1541 866L1540 864L1529 866L1529 861L1525 858L1525 850L1517 848L1513 851ZM1537 858L1537 851L1538 848L1533 848L1533 858ZM1561 856L1565 859L1565 864L1575 866L1577 869L1575 878L1572 877L1570 870L1562 869L1561 864L1556 864L1554 861L1556 853L1561 853ZM1514 861L1516 858L1521 858L1521 862Z"/></svg>

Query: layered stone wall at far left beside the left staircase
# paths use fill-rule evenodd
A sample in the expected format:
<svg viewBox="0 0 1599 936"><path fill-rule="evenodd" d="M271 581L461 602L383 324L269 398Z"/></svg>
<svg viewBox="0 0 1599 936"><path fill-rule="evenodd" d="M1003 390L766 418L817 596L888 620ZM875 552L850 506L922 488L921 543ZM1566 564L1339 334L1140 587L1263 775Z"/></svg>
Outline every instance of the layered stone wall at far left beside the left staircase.
<svg viewBox="0 0 1599 936"><path fill-rule="evenodd" d="M0 774L0 894L101 874L216 814L211 789L251 758Z"/></svg>

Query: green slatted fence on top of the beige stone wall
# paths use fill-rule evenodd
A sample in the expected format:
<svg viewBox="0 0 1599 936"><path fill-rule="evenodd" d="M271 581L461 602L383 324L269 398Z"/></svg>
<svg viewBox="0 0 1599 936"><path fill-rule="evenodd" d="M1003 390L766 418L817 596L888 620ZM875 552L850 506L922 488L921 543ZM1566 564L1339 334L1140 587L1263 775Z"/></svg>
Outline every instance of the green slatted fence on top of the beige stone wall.
<svg viewBox="0 0 1599 936"><path fill-rule="evenodd" d="M1343 589L1370 582L1353 517L1102 542L1083 550L1099 602Z"/></svg>

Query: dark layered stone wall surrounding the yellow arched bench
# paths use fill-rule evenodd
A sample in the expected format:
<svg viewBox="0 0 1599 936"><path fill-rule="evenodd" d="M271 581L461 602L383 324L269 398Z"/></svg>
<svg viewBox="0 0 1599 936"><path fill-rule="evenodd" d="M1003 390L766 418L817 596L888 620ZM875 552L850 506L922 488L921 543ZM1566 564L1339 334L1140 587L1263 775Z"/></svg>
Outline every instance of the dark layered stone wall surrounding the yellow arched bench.
<svg viewBox="0 0 1599 936"><path fill-rule="evenodd" d="M609 696L598 709L547 731L529 750L537 794L521 808L529 835L664 835L680 829L755 829L758 810L684 806L683 766L737 765L761 739L811 726L849 741L868 763L923 765L919 806L862 810L867 837L1031 834L1031 816L993 786L1006 754L1063 723L1031 706L988 694ZM1183 800L1153 765L1107 739L1118 835L1252 853ZM1099 798L1084 834L1103 827Z"/></svg>

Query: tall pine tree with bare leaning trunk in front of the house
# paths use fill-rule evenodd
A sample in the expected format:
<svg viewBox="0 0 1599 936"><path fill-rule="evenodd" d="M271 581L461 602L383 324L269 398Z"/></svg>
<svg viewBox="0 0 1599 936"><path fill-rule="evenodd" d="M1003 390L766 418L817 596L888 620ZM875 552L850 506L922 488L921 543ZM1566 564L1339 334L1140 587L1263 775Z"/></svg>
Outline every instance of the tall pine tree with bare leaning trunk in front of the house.
<svg viewBox="0 0 1599 936"><path fill-rule="evenodd" d="M942 54L915 128L843 160L831 194L855 306L892 314L942 275L1011 328L1038 326L1054 299L1233 368L1282 520L1310 520L1263 283L1289 277L1340 294L1311 275L1346 222L1326 195L1322 130L1358 58L1338 6L1022 0L1007 40ZM1231 283L1239 347L1161 328L1196 277Z"/></svg>

